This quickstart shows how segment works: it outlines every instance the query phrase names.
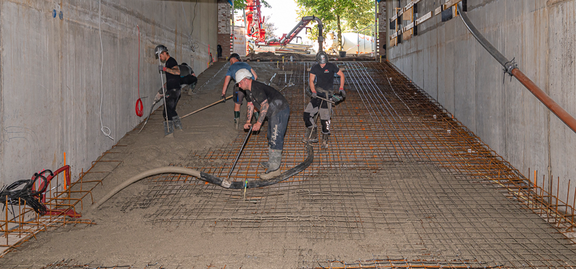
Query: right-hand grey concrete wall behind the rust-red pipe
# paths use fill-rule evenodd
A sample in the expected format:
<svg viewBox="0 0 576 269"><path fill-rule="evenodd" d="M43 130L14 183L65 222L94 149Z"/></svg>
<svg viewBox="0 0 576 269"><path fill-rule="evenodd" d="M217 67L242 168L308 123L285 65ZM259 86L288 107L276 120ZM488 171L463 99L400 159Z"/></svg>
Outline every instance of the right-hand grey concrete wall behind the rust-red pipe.
<svg viewBox="0 0 576 269"><path fill-rule="evenodd" d="M406 5L401 1L400 5ZM423 15L445 1L420 1ZM399 1L387 1L389 10ZM392 17L388 13L388 18ZM468 0L468 17L483 35L571 115L576 115L576 1ZM492 149L528 176L554 176L566 199L576 177L576 134L549 112L465 28L460 17L434 16L419 35L388 48L389 60ZM530 175L533 177L533 174ZM569 203L574 197L570 187Z"/></svg>

